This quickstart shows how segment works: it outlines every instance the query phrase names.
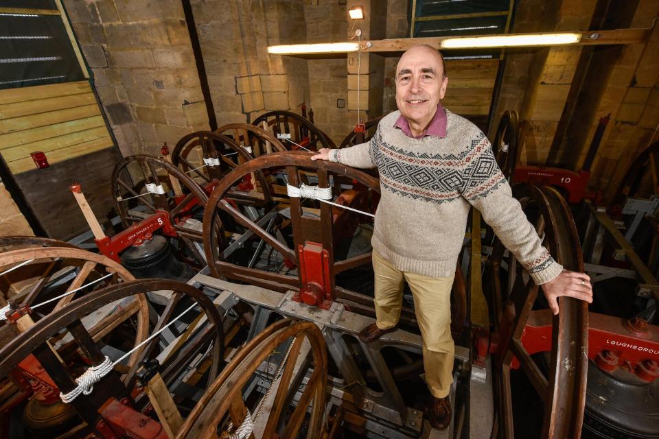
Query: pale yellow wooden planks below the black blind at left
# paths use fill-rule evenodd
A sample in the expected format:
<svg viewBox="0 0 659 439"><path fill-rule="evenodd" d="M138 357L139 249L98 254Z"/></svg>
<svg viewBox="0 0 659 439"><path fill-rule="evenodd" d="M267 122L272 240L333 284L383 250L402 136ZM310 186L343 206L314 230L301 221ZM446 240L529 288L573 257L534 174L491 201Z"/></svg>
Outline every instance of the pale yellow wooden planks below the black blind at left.
<svg viewBox="0 0 659 439"><path fill-rule="evenodd" d="M112 146L89 82L0 90L0 154L13 174L35 169L31 152L53 165Z"/></svg>

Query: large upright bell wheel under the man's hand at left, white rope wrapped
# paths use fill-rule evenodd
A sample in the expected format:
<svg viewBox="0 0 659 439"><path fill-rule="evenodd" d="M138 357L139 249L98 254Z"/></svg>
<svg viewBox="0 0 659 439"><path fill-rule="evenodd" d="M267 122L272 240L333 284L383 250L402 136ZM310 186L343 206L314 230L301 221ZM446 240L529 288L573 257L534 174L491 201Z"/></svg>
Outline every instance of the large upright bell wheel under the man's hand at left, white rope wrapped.
<svg viewBox="0 0 659 439"><path fill-rule="evenodd" d="M251 172L270 169L285 169L285 174L281 176L281 179L286 180L286 182L295 187L299 187L304 176L307 175L305 173L308 173L317 176L320 187L327 187L332 176L336 175L348 176L360 182L366 188L363 192L364 194L371 193L371 191L380 192L380 185L377 178L338 163L312 161L311 155L308 152L276 152L268 154L233 169L233 171L220 181L216 189L211 193L209 209L207 209L204 215L204 246L208 258L207 261L209 261L209 268L213 276L225 276L263 287L269 287L276 291L287 291L291 288L299 289L301 285L301 274L287 275L258 270L257 268L245 268L239 263L225 260L222 256L222 251L225 248L222 241L223 237L221 235L218 236L216 229L207 226L207 224L212 224L220 212L230 215L235 222L241 224L255 239L262 240L267 244L270 248L268 251L278 254L278 261L284 261L288 265L297 265L297 248L303 246L307 239L322 244L323 248L328 250L329 272L332 276L345 270L371 263L370 252L351 259L334 261L334 254L332 254L333 234L340 232L340 230L334 229L332 223L333 215L339 212L339 208L337 207L316 202L315 200L301 200L300 198L292 197L288 198L288 202L285 202L286 195L282 194L279 207L284 208L284 206L287 206L286 209L288 209L288 216L290 217L288 224L290 224L292 230L292 237L287 241L282 235L264 230L265 227L259 225L259 222L261 222L260 219L255 221L242 215L231 204L233 197L232 188L236 182L239 182ZM336 193L334 195L340 196L341 194ZM302 204L305 205L304 210ZM365 218L366 221L370 221L369 217ZM291 245L293 248L290 247ZM340 296L340 289L335 289L334 294L335 296Z"/></svg>

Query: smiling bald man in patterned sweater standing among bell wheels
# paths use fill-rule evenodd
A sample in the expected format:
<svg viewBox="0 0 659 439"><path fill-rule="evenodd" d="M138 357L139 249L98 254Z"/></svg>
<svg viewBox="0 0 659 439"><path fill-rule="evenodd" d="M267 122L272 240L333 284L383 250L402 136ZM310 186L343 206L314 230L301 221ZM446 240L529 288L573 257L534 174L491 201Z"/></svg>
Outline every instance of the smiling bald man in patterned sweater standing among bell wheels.
<svg viewBox="0 0 659 439"><path fill-rule="evenodd" d="M430 423L444 429L451 420L454 360L450 293L470 207L542 285L553 313L559 296L592 302L592 287L586 274L564 270L542 246L485 134L441 106L448 86L441 54L428 45L412 47L398 62L395 82L398 111L382 118L369 143L324 148L312 158L380 172L371 241L376 321L359 337L369 343L397 329L407 282L424 341Z"/></svg>

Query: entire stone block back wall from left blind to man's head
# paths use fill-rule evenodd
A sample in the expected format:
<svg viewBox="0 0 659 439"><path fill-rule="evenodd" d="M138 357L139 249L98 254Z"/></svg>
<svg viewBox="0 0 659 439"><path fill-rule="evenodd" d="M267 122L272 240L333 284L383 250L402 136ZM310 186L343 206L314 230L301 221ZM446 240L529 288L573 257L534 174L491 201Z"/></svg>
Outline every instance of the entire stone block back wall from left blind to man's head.
<svg viewBox="0 0 659 439"><path fill-rule="evenodd" d="M181 0L64 3L124 156L158 154L163 142L209 128ZM364 28L362 40L407 26L405 0L367 1L367 19L357 22L347 15L351 3L191 0L218 125L250 122L270 110L299 113L304 102L339 143L357 122L356 58L270 56L267 47L345 41L353 23ZM388 58L362 55L361 119L386 108L385 64Z"/></svg>

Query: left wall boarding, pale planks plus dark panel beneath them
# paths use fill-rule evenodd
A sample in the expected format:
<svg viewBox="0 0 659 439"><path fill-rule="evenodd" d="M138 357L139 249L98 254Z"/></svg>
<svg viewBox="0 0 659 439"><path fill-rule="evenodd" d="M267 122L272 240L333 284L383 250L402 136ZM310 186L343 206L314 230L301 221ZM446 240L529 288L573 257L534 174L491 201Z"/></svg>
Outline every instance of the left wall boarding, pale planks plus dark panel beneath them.
<svg viewBox="0 0 659 439"><path fill-rule="evenodd" d="M36 151L49 167L36 167ZM73 182L82 183L99 219L114 208L111 174L121 157L87 81L0 90L0 154L48 237L88 229Z"/></svg>

